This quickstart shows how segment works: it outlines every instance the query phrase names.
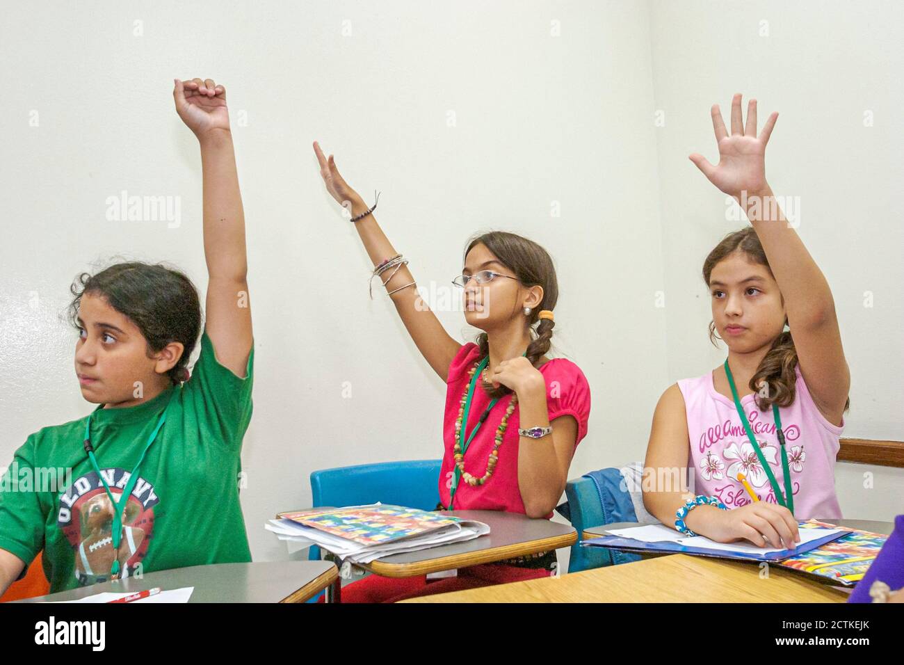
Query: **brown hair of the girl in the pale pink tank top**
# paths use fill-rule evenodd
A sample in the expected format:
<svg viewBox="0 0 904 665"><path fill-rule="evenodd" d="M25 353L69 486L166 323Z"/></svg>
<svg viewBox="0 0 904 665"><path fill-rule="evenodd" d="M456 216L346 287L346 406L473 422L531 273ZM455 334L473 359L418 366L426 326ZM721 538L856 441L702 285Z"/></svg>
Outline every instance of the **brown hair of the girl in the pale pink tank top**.
<svg viewBox="0 0 904 665"><path fill-rule="evenodd" d="M706 282L707 286L710 285L712 269L719 261L725 259L732 252L743 252L750 261L766 266L769 274L772 274L772 269L769 267L769 261L766 258L766 252L763 251L763 245L759 242L759 236L752 226L748 226L740 231L729 233L722 238L721 242L712 248L712 251L706 257L706 261L703 261L703 281ZM782 301L784 302L784 299ZM787 318L785 318L785 324L787 325ZM715 322L711 321L710 341L713 346L717 346L715 335ZM769 347L766 356L763 356L763 359L759 362L757 371L750 378L749 388L757 394L754 399L756 399L757 405L761 410L766 411L771 408L772 404L777 404L778 406L794 404L797 378L795 374L796 366L797 349L794 346L794 337L791 336L790 330L785 330L772 342L772 346ZM760 386L764 383L768 385L767 395L765 396L759 394ZM850 406L851 398L849 397L847 402L844 403L844 411L847 411Z"/></svg>

